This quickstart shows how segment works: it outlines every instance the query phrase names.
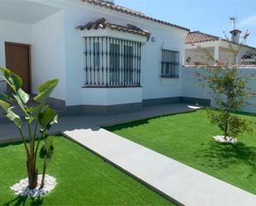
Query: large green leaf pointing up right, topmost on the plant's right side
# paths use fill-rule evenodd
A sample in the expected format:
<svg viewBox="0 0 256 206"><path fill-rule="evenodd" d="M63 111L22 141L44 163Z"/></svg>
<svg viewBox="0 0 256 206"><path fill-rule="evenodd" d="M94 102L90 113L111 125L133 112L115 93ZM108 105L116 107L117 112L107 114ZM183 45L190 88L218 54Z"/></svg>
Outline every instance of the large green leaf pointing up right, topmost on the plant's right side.
<svg viewBox="0 0 256 206"><path fill-rule="evenodd" d="M45 83L41 84L37 89L39 93L34 97L36 103L46 103L46 99L50 96L53 89L56 88L58 84L58 79L52 79L50 81L46 81Z"/></svg>

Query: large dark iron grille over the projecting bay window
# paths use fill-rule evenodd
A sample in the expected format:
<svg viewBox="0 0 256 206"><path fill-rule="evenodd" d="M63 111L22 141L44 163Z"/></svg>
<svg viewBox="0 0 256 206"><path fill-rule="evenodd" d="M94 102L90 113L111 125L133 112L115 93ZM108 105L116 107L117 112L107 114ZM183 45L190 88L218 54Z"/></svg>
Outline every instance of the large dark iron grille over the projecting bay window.
<svg viewBox="0 0 256 206"><path fill-rule="evenodd" d="M140 86L141 43L85 37L85 87Z"/></svg>

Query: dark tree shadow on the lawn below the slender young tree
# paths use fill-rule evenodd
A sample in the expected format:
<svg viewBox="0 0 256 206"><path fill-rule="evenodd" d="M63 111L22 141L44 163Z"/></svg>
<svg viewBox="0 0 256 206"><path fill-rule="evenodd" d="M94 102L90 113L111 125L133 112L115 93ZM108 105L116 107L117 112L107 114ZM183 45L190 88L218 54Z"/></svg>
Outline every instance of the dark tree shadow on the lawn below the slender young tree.
<svg viewBox="0 0 256 206"><path fill-rule="evenodd" d="M244 164L251 170L249 176L256 172L256 147L237 144L210 142L210 146L200 151L205 164L215 169L227 168L229 165Z"/></svg>

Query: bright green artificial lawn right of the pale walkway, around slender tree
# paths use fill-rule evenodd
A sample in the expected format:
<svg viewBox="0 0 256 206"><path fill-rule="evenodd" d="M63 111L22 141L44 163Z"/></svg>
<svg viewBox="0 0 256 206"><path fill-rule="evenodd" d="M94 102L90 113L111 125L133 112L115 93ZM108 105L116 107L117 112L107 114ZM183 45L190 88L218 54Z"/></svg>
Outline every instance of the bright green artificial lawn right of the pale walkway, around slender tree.
<svg viewBox="0 0 256 206"><path fill-rule="evenodd" d="M256 194L256 133L240 135L236 145L217 143L212 137L222 132L210 124L204 110L106 129Z"/></svg>

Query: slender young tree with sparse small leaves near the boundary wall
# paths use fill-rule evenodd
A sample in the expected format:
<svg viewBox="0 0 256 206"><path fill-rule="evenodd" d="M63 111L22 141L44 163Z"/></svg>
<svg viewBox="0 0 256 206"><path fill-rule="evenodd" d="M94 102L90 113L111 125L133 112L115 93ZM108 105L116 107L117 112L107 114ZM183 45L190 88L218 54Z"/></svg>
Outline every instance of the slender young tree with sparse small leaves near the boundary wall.
<svg viewBox="0 0 256 206"><path fill-rule="evenodd" d="M205 66L204 72L196 72L200 87L209 87L210 96L217 105L217 109L207 109L208 117L224 132L225 140L227 137L237 137L242 132L253 132L251 121L234 115L244 106L251 105L249 100L256 97L256 93L248 87L255 74L243 74L237 65L242 46L243 43L239 46L229 44L233 55L231 64L215 60L207 50L204 50L207 59L212 60L213 65Z"/></svg>

